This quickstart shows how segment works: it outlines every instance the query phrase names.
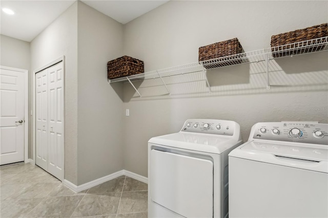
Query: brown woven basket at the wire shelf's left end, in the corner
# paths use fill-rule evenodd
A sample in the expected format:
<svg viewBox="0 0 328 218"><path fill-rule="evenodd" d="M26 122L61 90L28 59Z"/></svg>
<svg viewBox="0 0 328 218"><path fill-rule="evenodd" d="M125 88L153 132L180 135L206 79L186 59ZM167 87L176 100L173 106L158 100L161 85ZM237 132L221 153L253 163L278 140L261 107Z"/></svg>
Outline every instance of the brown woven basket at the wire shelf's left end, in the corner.
<svg viewBox="0 0 328 218"><path fill-rule="evenodd" d="M108 79L144 73L144 61L129 56L123 56L107 63Z"/></svg>

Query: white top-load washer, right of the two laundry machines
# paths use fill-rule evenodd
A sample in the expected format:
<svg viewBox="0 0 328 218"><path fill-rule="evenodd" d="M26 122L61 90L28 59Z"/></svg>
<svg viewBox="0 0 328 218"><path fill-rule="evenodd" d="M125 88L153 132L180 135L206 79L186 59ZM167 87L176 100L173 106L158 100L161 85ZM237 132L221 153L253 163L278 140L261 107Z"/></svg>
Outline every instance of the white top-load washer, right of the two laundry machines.
<svg viewBox="0 0 328 218"><path fill-rule="evenodd" d="M328 124L256 123L229 154L230 217L328 217Z"/></svg>

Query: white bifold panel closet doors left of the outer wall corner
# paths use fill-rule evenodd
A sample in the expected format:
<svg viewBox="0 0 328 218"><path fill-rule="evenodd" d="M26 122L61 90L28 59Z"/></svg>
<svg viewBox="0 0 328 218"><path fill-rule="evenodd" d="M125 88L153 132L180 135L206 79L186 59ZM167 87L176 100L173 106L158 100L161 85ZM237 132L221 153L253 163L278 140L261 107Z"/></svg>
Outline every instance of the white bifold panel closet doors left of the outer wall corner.
<svg viewBox="0 0 328 218"><path fill-rule="evenodd" d="M63 62L35 75L36 164L64 179Z"/></svg>

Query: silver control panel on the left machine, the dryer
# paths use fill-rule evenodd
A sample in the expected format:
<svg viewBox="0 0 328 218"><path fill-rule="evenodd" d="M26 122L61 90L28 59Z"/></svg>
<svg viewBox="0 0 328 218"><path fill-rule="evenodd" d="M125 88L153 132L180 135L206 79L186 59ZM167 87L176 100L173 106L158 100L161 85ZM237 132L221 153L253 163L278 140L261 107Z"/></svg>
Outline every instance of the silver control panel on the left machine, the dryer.
<svg viewBox="0 0 328 218"><path fill-rule="evenodd" d="M187 120L181 131L232 136L235 126L236 122L230 120L193 119Z"/></svg>

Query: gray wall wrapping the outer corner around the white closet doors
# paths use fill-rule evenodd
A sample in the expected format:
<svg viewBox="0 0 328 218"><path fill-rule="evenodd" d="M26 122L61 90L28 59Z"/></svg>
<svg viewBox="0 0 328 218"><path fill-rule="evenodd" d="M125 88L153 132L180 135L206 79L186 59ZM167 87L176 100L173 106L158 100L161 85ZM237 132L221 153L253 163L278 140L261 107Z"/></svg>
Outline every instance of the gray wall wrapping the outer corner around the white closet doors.
<svg viewBox="0 0 328 218"><path fill-rule="evenodd" d="M65 179L75 185L123 167L122 85L106 73L121 54L122 25L81 2L31 42L32 70L65 55Z"/></svg>

